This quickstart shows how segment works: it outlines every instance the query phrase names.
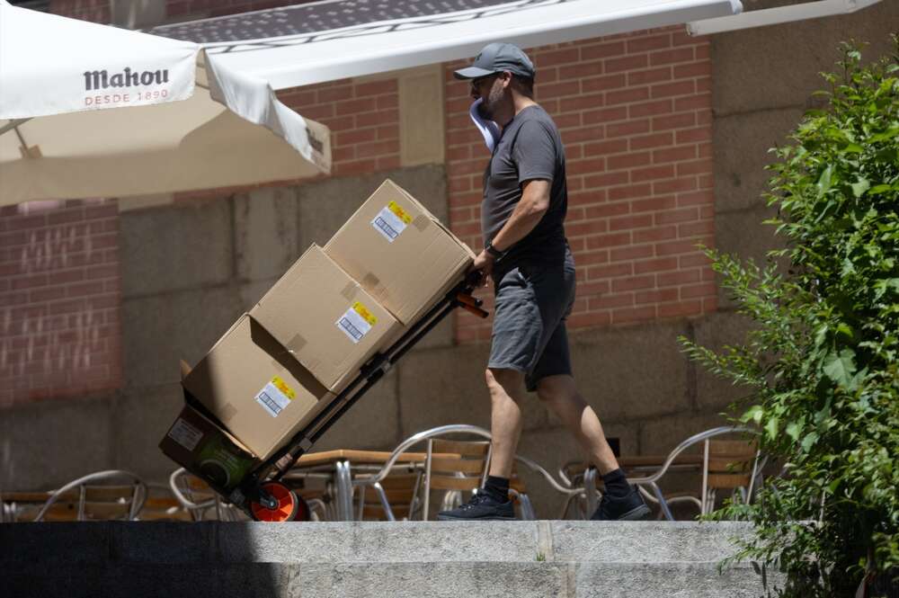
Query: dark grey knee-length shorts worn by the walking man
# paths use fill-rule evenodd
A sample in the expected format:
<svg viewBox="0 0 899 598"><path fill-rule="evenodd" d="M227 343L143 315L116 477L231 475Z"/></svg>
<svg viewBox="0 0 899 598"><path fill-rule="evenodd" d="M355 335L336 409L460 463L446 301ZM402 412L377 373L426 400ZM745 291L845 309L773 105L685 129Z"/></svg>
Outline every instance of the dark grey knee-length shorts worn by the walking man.
<svg viewBox="0 0 899 598"><path fill-rule="evenodd" d="M488 368L518 370L529 391L540 379L571 375L565 318L574 305L574 259L564 267L520 264L494 281L494 333Z"/></svg>

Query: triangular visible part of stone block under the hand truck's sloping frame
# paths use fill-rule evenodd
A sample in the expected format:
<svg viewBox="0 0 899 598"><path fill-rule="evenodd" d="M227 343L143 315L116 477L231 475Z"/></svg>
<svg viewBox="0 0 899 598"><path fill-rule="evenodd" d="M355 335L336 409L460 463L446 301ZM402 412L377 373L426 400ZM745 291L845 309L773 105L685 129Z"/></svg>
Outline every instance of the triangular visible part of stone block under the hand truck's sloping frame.
<svg viewBox="0 0 899 598"><path fill-rule="evenodd" d="M390 371L316 442L315 451L331 449L383 449L392 451L399 434L396 370Z"/></svg>

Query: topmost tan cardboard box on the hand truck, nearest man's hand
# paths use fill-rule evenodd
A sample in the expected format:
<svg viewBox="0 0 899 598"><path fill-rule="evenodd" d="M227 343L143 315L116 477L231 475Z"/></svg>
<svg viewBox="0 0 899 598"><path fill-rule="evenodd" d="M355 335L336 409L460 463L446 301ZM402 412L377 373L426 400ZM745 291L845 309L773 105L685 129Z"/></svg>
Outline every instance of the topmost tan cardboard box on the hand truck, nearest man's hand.
<svg viewBox="0 0 899 598"><path fill-rule="evenodd" d="M404 325L461 281L475 254L389 179L325 245L325 254Z"/></svg>

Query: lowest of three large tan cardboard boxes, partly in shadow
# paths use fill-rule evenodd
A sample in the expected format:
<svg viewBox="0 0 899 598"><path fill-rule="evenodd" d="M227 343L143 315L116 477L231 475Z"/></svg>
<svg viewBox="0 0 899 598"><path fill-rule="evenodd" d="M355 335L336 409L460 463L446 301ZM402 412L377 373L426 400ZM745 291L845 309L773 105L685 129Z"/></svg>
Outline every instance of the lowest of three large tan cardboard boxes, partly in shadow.
<svg viewBox="0 0 899 598"><path fill-rule="evenodd" d="M268 459L334 399L247 315L218 340L183 385L260 460Z"/></svg>

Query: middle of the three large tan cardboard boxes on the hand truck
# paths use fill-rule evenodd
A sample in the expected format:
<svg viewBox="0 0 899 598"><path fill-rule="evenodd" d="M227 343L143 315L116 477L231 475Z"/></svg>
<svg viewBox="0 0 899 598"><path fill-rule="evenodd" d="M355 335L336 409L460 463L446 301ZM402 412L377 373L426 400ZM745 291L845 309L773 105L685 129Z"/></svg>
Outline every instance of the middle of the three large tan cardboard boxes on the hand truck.
<svg viewBox="0 0 899 598"><path fill-rule="evenodd" d="M399 327L318 245L300 256L250 316L334 393Z"/></svg>

